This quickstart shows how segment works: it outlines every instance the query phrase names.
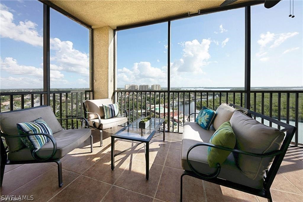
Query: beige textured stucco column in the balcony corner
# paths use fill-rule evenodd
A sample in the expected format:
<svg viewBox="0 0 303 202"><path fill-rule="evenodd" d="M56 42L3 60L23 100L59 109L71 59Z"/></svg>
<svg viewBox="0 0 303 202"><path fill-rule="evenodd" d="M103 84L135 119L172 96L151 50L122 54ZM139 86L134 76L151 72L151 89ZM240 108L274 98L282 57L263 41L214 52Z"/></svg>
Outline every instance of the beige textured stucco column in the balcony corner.
<svg viewBox="0 0 303 202"><path fill-rule="evenodd" d="M94 99L113 98L114 30L109 26L93 29Z"/></svg>

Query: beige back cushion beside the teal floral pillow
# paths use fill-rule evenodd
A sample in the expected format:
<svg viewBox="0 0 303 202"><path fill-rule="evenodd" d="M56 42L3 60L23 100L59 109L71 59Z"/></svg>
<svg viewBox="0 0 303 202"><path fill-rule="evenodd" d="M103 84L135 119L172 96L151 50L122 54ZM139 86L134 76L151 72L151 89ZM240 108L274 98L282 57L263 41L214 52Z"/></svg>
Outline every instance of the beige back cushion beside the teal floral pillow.
<svg viewBox="0 0 303 202"><path fill-rule="evenodd" d="M232 114L236 111L235 108L229 106L226 103L221 104L218 109L216 110L216 116L215 116L215 120L214 123L212 124L215 128L215 130L217 130L222 123L225 123L226 121L229 121Z"/></svg>

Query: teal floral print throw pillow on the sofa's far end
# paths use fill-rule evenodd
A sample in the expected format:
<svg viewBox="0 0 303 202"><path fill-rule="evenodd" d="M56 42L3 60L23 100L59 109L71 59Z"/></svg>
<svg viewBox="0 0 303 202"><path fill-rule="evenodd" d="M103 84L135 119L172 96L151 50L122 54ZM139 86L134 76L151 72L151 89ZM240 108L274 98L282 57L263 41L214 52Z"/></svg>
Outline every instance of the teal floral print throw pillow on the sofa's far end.
<svg viewBox="0 0 303 202"><path fill-rule="evenodd" d="M207 107L203 107L196 118L196 122L205 130L209 130L212 122L215 120L216 112Z"/></svg>

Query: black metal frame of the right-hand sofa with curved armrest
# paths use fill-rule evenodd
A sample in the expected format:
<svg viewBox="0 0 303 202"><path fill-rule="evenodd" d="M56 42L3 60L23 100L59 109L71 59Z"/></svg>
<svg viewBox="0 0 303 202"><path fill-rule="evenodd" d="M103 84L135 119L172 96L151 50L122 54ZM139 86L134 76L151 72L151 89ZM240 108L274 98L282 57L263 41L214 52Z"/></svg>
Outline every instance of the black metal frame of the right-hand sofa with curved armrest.
<svg viewBox="0 0 303 202"><path fill-rule="evenodd" d="M294 136L295 131L296 131L297 128L295 126L291 126L287 123L283 123L283 122L275 120L271 117L265 116L265 115L260 114L260 113L256 113L254 111L251 111L249 109L237 106L235 104L229 104L229 105L232 106L232 107L235 107L237 109L241 109L242 111L244 111L250 117L252 117L252 115L258 116L258 117L261 117L262 119L268 120L269 122L272 122L272 123L275 123L279 126L284 127L284 129L282 131L286 132L286 136L285 136L285 139L282 143L281 148L279 150L268 152L268 153L250 153L250 152L245 152L245 151L241 151L241 150L230 149L230 148L223 147L223 146L216 146L216 145L209 144L209 143L197 143L197 144L191 146L188 149L187 156L186 156L188 165L191 168L191 170L185 170L184 173L181 175L180 201L182 201L182 178L185 175L189 175L191 177L195 177L195 178L198 178L198 179L201 179L201 180L206 180L208 182L215 183L215 184L218 184L218 185L222 185L222 186L225 186L225 187L229 187L229 188L232 188L232 189L240 190L240 191L243 191L243 192L246 192L246 193L249 193L249 194L254 194L254 195L257 195L257 196L260 196L260 197L267 198L268 201L272 201L271 193L270 193L271 184L273 183L273 181L275 179L275 176L278 172L278 169L279 169L279 167L280 167L280 165L283 161L283 158L284 158L284 156L287 152L288 146L291 143L291 139ZM273 160L273 163L271 164L270 169L266 171L266 175L264 177L263 188L262 189L255 189L255 188L252 188L252 187L241 185L239 183L234 183L234 182L231 182L231 181L228 181L228 180L218 178L218 175L219 175L220 170L221 170L221 165L219 163L217 164L217 170L214 173L210 174L210 175L205 175L205 174L200 173L197 170L195 170L195 168L192 167L192 165L191 165L191 163L188 159L188 155L189 155L190 151L193 148L197 147L197 146L210 146L210 147L214 147L214 148L218 148L218 149L222 149L222 150L227 150L227 151L231 151L231 152L235 152L235 153L241 153L241 154L245 154L245 155L253 156L253 157L275 157L275 158Z"/></svg>

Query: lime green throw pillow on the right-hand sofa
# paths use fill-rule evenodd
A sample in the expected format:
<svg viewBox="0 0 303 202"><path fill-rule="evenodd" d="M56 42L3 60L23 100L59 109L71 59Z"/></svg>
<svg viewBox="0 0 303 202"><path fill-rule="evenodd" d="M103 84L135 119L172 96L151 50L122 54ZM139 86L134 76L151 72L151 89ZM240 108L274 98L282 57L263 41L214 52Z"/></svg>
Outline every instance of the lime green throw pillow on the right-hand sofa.
<svg viewBox="0 0 303 202"><path fill-rule="evenodd" d="M209 143L231 149L235 148L236 136L229 121L222 123L218 130L216 130L216 132L211 136ZM207 151L207 161L209 167L216 167L217 163L222 164L230 153L230 151L220 150L209 146Z"/></svg>

